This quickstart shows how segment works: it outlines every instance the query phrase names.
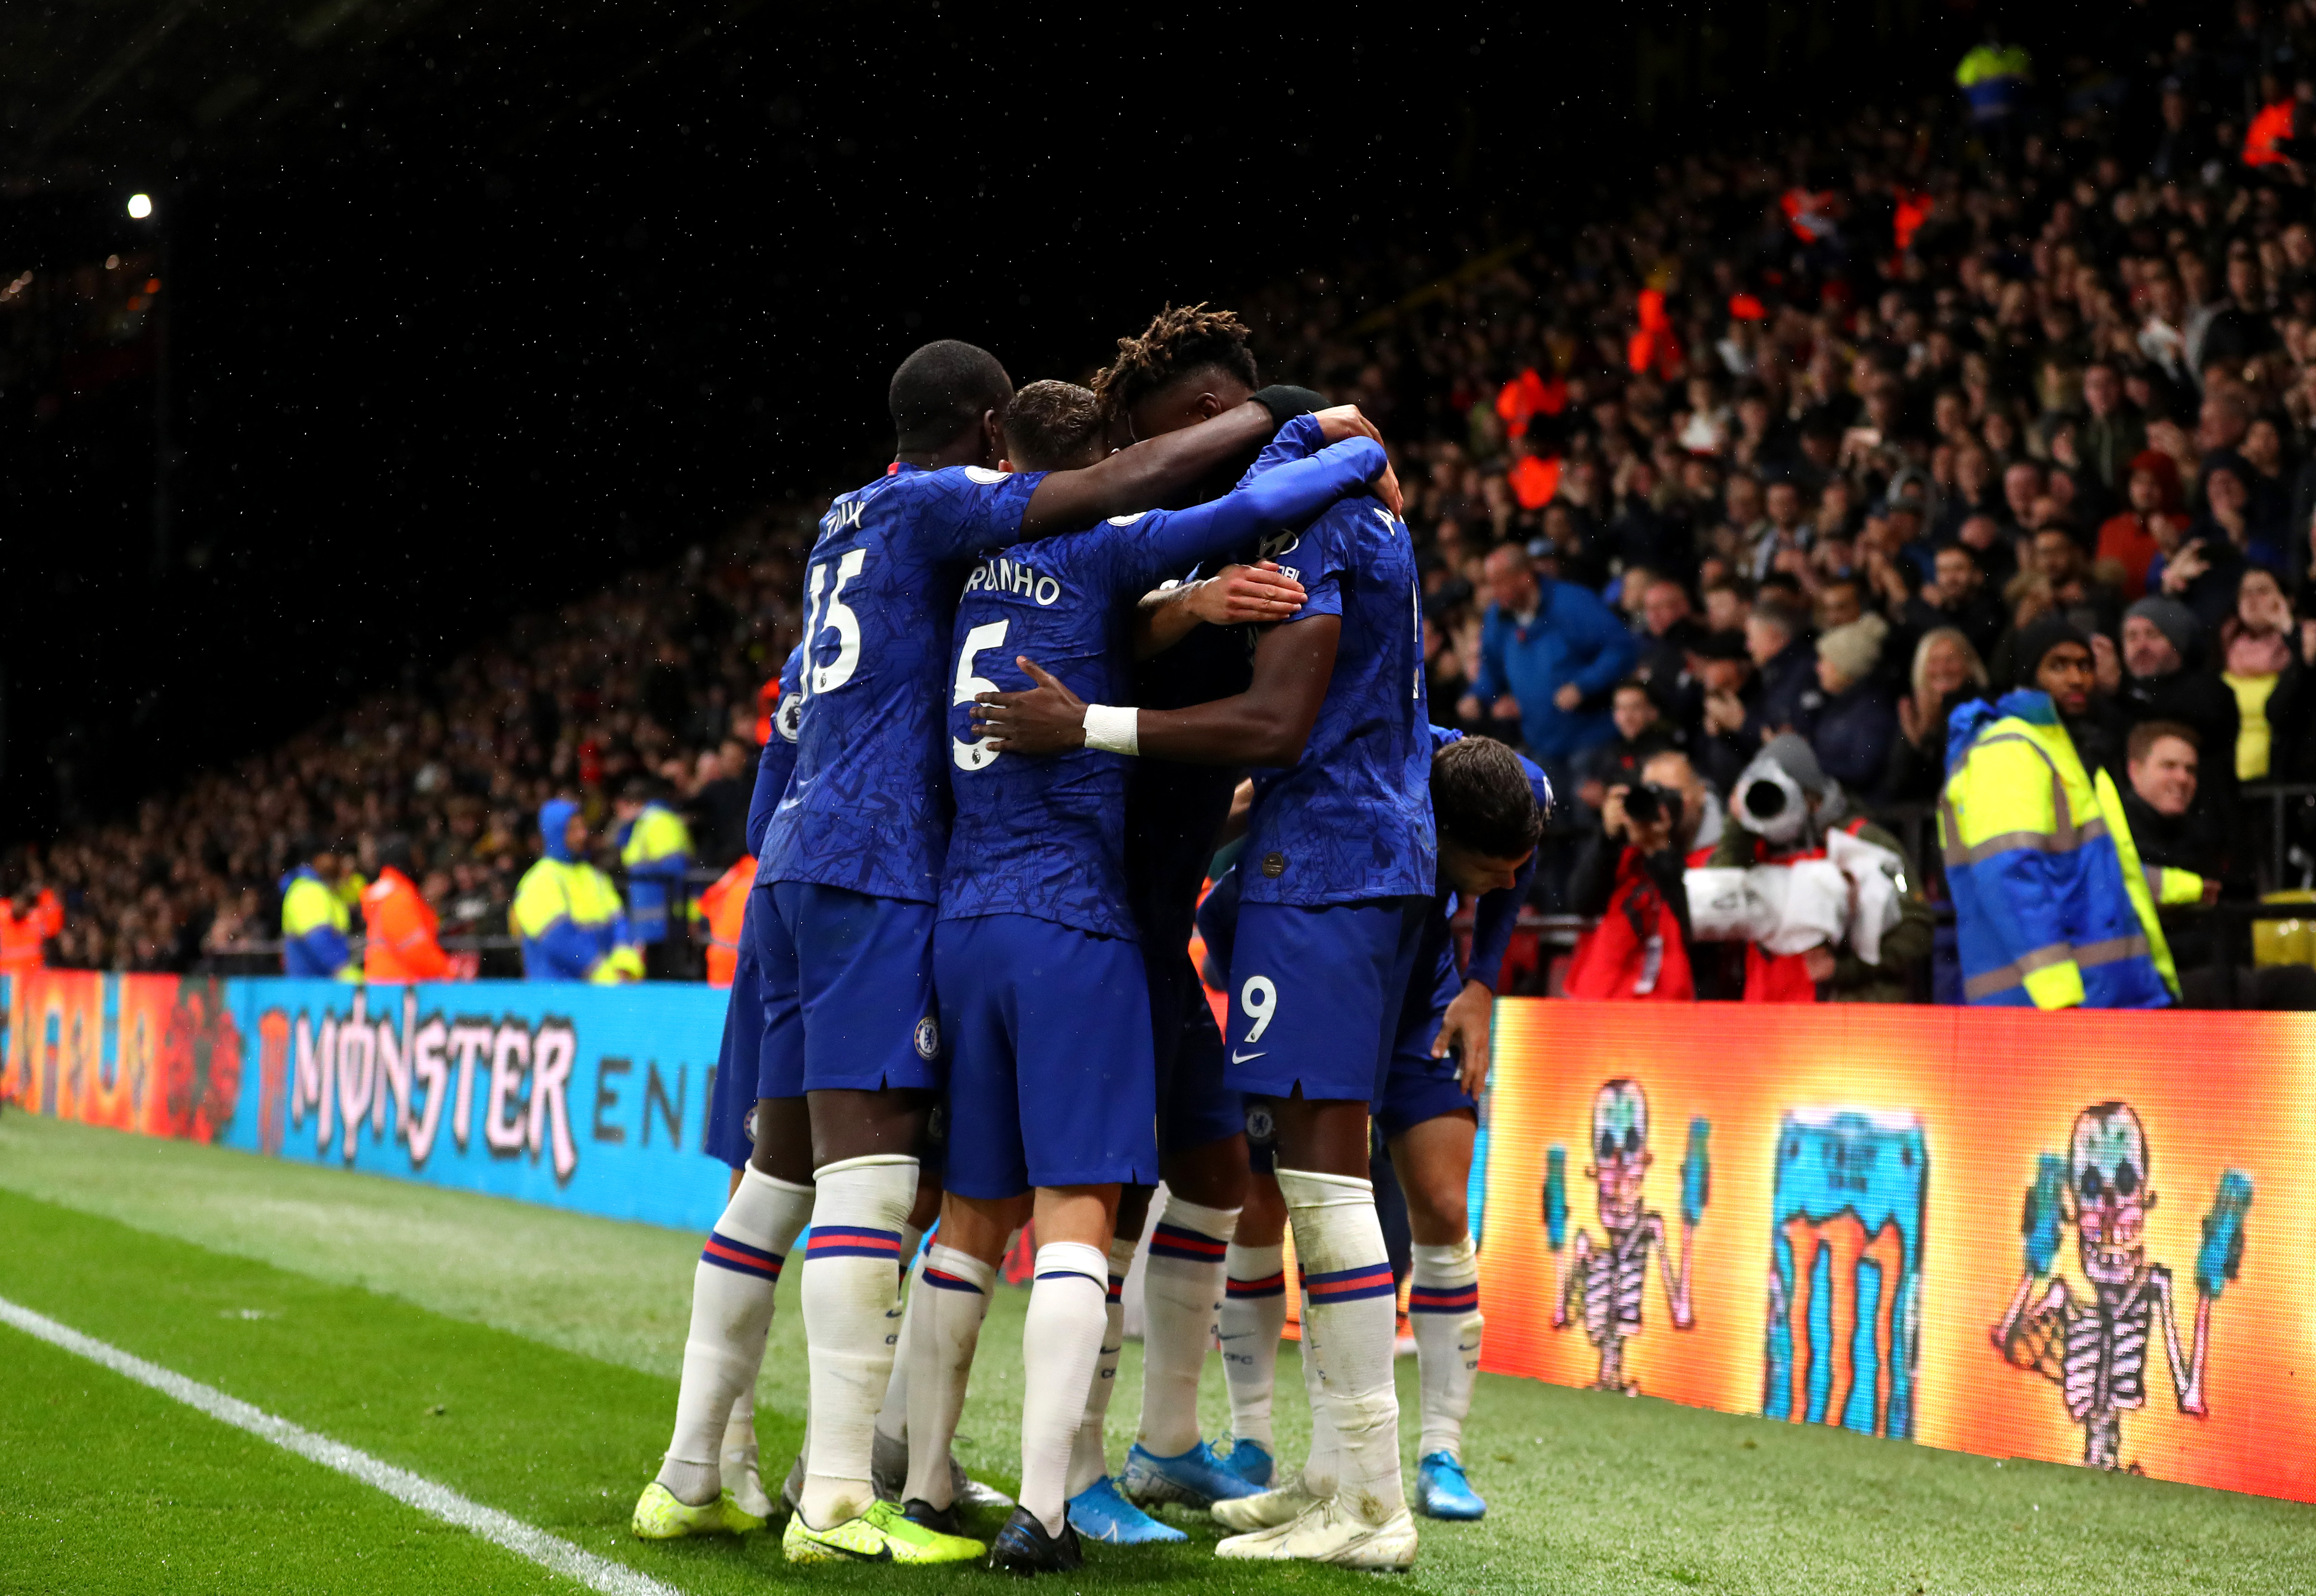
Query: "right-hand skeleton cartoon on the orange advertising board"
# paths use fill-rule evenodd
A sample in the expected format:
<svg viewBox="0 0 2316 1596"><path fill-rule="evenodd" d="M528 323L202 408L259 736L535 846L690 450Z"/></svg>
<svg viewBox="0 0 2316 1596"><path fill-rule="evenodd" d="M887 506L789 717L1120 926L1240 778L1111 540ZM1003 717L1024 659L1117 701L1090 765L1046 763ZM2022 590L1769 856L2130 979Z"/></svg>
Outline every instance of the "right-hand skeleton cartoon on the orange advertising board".
<svg viewBox="0 0 2316 1596"><path fill-rule="evenodd" d="M2147 1404L2147 1353L2159 1327L2179 1411L2205 1415L2212 1304L2244 1260L2251 1179L2223 1172L2203 1218L2196 1325L2184 1353L2172 1272L2147 1260L2154 1207L2147 1128L2128 1103L2082 1110L2068 1156L2043 1154L2026 1191L2026 1274L1994 1327L1994 1346L2059 1388L2068 1418L2082 1425L2082 1462L2091 1469L2124 1466L2124 1413ZM2068 1223L2075 1225L2082 1288L2057 1272Z"/></svg>

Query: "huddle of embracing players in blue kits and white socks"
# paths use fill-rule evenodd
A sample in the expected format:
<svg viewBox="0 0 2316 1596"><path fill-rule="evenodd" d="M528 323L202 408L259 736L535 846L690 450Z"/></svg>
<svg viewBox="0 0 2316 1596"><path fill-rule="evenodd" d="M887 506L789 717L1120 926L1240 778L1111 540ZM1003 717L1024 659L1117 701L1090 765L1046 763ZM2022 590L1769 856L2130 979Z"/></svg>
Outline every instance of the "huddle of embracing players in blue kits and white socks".
<svg viewBox="0 0 2316 1596"><path fill-rule="evenodd" d="M1246 329L1204 308L1119 341L1093 389L1014 391L954 341L894 373L894 463L820 521L757 774L711 1121L743 1167L639 1536L785 1508L790 1561L1042 1573L1082 1536L1181 1540L1149 1513L1181 1503L1234 1531L1221 1557L1410 1566L1378 1137L1413 1237L1413 1506L1485 1510L1464 1191L1549 790L1429 725L1399 489L1376 429L1322 403L1258 391ZM1160 1181L1142 1425L1112 1471L1119 1288ZM1024 1225L1019 1503L982 1545L959 1508L1005 1496L950 1443ZM1299 1473L1271 1438L1288 1228ZM774 1503L753 1390L806 1230L808 1427ZM1227 1450L1197 1429L1216 1344Z"/></svg>

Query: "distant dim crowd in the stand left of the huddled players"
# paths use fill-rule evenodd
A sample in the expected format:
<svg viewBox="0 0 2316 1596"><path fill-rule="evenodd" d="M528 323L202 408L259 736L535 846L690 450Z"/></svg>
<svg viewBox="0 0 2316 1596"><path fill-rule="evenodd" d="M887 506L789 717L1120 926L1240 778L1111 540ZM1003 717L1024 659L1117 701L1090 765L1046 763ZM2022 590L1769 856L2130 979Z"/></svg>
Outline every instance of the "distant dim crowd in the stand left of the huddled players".
<svg viewBox="0 0 2316 1596"><path fill-rule="evenodd" d="M375 876L398 836L445 943L498 940L484 973L514 975L507 908L556 792L581 795L598 836L625 792L672 799L704 869L746 848L757 690L794 646L801 540L787 521L748 521L674 570L526 616L426 688L373 695L146 799L134 822L19 855L9 887L63 901L53 964L278 968L285 873L343 850Z"/></svg>

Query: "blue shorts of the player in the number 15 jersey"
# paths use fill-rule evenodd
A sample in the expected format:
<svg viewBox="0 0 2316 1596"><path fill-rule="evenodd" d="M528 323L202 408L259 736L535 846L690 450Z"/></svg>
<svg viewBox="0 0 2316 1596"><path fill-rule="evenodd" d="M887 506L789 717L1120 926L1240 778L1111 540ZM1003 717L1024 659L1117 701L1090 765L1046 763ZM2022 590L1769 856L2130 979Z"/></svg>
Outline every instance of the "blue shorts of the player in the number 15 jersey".
<svg viewBox="0 0 2316 1596"><path fill-rule="evenodd" d="M776 880L748 903L764 982L760 1098L806 1091L938 1091L933 906Z"/></svg>

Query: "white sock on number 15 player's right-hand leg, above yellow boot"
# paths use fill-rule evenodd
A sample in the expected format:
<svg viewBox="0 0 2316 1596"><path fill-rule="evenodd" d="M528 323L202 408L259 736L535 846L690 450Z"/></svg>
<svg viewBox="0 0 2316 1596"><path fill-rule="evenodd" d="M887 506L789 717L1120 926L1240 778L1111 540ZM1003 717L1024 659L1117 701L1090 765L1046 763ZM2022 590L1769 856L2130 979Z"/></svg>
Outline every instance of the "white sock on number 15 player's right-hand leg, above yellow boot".
<svg viewBox="0 0 2316 1596"><path fill-rule="evenodd" d="M868 1457L901 1339L901 1232L917 1205L917 1161L878 1154L815 1172L804 1249L811 1350L811 1452L799 1513L813 1529L868 1510Z"/></svg>

